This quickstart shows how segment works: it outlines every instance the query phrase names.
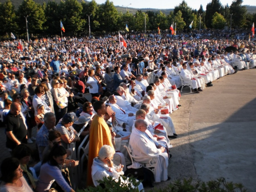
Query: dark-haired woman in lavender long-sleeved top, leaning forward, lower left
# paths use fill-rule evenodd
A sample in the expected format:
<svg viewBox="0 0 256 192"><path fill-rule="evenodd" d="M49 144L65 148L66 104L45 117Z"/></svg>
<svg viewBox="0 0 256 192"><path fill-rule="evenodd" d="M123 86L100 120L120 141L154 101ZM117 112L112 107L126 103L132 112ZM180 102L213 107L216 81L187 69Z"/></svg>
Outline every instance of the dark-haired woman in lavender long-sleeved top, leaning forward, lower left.
<svg viewBox="0 0 256 192"><path fill-rule="evenodd" d="M44 161L42 161L42 166L40 169L40 175L38 177L36 191L43 192L48 191L54 181L62 188L65 192L75 192L70 186L69 183L63 178L61 174L61 166L64 165L64 168L76 166L78 165L77 161L69 161L70 163L66 163L68 160L67 151L61 145L56 143L52 149L50 154Z"/></svg>

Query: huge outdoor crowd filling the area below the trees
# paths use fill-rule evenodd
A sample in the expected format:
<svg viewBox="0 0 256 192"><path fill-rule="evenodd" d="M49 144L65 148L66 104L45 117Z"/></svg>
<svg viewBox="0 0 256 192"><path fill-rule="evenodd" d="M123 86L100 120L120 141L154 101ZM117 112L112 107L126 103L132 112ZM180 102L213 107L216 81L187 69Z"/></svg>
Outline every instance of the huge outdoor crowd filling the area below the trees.
<svg viewBox="0 0 256 192"><path fill-rule="evenodd" d="M180 91L188 84L202 93L255 68L246 34L131 33L127 47L116 35L0 42L0 119L12 156L1 163L0 191L75 191L71 157L87 135L87 186L141 166L154 167L155 182L169 180ZM39 160L30 167L32 143Z"/></svg>

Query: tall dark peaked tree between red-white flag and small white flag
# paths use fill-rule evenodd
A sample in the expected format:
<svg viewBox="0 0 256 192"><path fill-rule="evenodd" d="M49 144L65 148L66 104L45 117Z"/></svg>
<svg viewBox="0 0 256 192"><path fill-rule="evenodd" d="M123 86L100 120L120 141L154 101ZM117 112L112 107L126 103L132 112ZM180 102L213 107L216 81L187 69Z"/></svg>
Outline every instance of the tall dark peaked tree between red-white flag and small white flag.
<svg viewBox="0 0 256 192"><path fill-rule="evenodd" d="M191 14L192 14L192 8L187 5L187 3L183 0L179 6L176 6L174 8L174 14L176 14L178 11L181 11L182 18L184 19L185 25L188 28L191 23Z"/></svg>

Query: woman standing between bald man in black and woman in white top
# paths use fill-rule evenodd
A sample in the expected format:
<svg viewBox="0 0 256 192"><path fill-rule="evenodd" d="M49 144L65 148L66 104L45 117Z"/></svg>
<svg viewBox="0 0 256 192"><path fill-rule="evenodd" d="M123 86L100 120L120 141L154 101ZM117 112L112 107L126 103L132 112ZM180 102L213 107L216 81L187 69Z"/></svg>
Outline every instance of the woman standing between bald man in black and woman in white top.
<svg viewBox="0 0 256 192"><path fill-rule="evenodd" d="M23 89L20 93L22 94L22 113L26 117L26 124L28 126L28 143L33 143L35 138L32 137L32 128L36 123L32 99L29 97L28 89Z"/></svg>

